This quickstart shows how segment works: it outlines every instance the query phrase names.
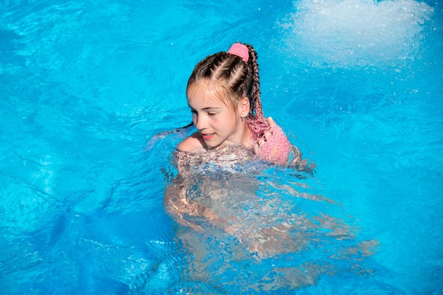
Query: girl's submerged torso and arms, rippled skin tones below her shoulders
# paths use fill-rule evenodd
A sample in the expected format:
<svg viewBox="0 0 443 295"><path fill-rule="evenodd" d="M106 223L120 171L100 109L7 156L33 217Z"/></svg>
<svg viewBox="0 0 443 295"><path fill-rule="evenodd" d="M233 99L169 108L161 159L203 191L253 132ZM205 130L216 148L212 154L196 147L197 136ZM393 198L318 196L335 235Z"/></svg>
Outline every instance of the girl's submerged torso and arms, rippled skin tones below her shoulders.
<svg viewBox="0 0 443 295"><path fill-rule="evenodd" d="M258 176L272 165L253 149L226 145L195 153L176 150L173 163L179 173L168 186L165 207L179 224L200 234L229 234L260 259L297 251L299 235L290 231L303 217L279 209L282 200L260 193Z"/></svg>

